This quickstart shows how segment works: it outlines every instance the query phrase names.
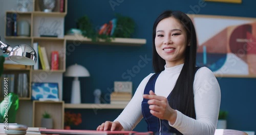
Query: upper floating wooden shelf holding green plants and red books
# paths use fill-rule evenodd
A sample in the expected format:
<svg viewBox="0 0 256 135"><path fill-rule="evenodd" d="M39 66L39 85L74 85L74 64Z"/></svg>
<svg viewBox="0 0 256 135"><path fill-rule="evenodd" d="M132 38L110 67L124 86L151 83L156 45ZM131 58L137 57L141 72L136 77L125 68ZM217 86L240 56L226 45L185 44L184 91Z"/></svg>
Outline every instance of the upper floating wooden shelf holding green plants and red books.
<svg viewBox="0 0 256 135"><path fill-rule="evenodd" d="M100 39L98 42L93 42L92 39L83 37L82 35L65 35L67 42L81 42L81 43L93 43L93 44L107 44L107 45L123 45L123 46L142 46L146 44L146 39L141 38L119 38L112 39L111 42L106 42Z"/></svg>

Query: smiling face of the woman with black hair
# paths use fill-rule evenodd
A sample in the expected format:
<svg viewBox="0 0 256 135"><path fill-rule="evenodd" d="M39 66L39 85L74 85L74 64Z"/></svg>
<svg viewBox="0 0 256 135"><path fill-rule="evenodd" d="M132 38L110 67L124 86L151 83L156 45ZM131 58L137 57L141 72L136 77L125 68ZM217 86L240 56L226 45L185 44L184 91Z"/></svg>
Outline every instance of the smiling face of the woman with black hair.
<svg viewBox="0 0 256 135"><path fill-rule="evenodd" d="M184 63L187 34L183 25L174 17L164 18L156 27L156 51L166 62L166 67Z"/></svg>

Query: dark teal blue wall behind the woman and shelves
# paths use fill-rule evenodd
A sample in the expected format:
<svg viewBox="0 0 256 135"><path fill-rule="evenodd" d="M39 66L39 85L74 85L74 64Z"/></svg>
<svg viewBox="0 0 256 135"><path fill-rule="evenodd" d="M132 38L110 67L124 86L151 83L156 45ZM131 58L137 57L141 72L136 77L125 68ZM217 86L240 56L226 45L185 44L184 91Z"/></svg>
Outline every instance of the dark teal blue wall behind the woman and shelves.
<svg viewBox="0 0 256 135"><path fill-rule="evenodd" d="M110 2L121 2L114 10ZM140 81L153 72L152 60L145 61L144 67L138 68L141 57L152 58L152 26L155 18L164 10L181 10L185 13L256 17L254 0L243 0L243 4L204 3L195 0L111 0L111 1L68 1L68 14L65 19L65 30L75 28L75 20L87 14L96 28L111 20L115 13L132 17L136 22L134 38L145 38L147 43L141 47L100 46L97 44L81 44L73 48L67 44L67 67L78 63L85 66L91 77L79 78L81 82L82 103L93 103L93 91L101 89L102 98L109 102L109 93L113 90L114 81L132 81L133 92ZM201 4L202 5L202 4ZM131 70L133 75L129 75ZM122 75L125 76L122 76ZM230 129L256 131L255 86L256 79L252 78L218 78L221 86L221 109L228 110ZM72 78L63 77L63 100L70 102ZM96 129L106 120L114 120L121 109L66 109L82 113L82 124L74 129ZM96 111L96 113L95 113ZM136 131L146 131L142 120L135 128Z"/></svg>

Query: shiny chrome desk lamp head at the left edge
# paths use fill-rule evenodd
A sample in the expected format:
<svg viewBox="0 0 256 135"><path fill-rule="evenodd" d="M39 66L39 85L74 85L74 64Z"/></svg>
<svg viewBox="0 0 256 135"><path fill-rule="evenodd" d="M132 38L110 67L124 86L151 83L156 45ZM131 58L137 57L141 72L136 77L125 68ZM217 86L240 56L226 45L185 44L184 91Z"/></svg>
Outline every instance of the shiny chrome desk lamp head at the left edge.
<svg viewBox="0 0 256 135"><path fill-rule="evenodd" d="M3 53L8 53L10 60L19 64L34 65L36 63L35 50L26 44L19 44L12 48L10 45L3 43L0 36L0 49L3 50Z"/></svg>

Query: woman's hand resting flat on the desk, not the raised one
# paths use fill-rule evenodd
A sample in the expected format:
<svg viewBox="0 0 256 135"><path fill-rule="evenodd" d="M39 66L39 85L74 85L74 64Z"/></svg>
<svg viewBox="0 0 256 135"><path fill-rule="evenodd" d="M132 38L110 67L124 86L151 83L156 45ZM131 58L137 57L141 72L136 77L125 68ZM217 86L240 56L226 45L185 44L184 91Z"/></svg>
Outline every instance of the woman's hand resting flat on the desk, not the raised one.
<svg viewBox="0 0 256 135"><path fill-rule="evenodd" d="M106 121L99 125L96 130L111 130L111 131L123 131L123 126L118 122Z"/></svg>

